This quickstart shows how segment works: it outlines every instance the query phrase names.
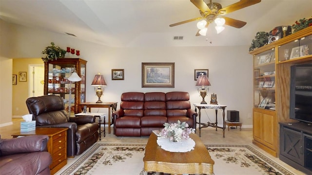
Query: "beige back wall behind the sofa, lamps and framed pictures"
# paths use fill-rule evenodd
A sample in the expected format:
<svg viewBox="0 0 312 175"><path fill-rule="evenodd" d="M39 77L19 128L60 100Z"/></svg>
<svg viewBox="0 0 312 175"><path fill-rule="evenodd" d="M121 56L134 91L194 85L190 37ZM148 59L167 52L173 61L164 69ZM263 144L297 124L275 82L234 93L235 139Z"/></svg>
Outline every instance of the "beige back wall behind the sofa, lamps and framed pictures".
<svg viewBox="0 0 312 175"><path fill-rule="evenodd" d="M10 49L14 49L15 52L10 54L10 58L40 58L41 51L52 41L61 48L71 47L80 50L80 58L88 61L87 102L95 102L98 99L91 87L91 82L94 75L100 72L107 83L101 100L118 102L118 108L121 93L127 91L187 91L190 93L191 103L199 103L201 97L195 87L194 70L209 69L212 86L206 101L210 101L211 93L217 94L217 101L227 105L227 110L240 112L243 125L252 125L252 118L247 117L252 114L253 108L253 60L248 53L249 46L111 48L78 40L68 35L19 25L13 26L15 46ZM2 29L2 26L0 27ZM175 88L141 88L142 62L175 62ZM111 80L112 69L124 69L124 80ZM11 76L11 72L7 76ZM1 103L3 102L5 103L5 100L1 99ZM20 104L23 105L24 102L25 99L22 99ZM24 106L21 105L19 108L23 109ZM7 109L15 110L12 106ZM104 109L96 109L96 112L107 112L102 110ZM205 110L202 116L202 122L215 122L215 110ZM221 111L219 111L218 120L220 123Z"/></svg>

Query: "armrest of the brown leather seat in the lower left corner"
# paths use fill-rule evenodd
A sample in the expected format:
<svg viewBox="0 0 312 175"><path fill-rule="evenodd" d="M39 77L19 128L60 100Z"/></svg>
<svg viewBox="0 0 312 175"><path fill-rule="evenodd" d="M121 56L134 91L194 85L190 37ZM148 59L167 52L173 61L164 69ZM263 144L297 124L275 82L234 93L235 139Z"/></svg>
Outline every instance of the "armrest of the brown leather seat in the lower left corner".
<svg viewBox="0 0 312 175"><path fill-rule="evenodd" d="M32 135L14 139L1 139L1 156L47 151L49 137L46 135Z"/></svg>

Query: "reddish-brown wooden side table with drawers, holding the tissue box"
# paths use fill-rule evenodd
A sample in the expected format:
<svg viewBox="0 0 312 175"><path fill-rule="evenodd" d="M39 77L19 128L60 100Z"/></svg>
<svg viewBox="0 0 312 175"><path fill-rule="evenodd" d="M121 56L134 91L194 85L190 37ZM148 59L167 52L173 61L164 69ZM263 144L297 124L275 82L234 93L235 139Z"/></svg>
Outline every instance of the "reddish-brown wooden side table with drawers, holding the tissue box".
<svg viewBox="0 0 312 175"><path fill-rule="evenodd" d="M51 175L58 172L67 164L67 129L68 128L44 128L37 127L34 131L19 132L12 134L13 138L19 136L31 135L47 135L49 140L47 143L48 152L52 156L50 165Z"/></svg>

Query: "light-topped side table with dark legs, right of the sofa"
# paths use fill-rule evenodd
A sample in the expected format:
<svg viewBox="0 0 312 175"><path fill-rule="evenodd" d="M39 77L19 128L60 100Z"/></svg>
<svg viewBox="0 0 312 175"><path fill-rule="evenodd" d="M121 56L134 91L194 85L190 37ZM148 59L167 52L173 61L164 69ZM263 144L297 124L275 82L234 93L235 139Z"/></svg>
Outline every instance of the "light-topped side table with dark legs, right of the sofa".
<svg viewBox="0 0 312 175"><path fill-rule="evenodd" d="M223 129L223 138L225 137L224 134L225 134L225 121L224 121L224 118L225 118L225 107L226 105L212 105L212 104L194 104L195 106L195 112L197 112L197 108L198 108L198 118L199 118L199 122L196 122L199 124L198 126L198 129L199 129L199 137L201 137L201 128L203 127L208 127L208 126L211 126L211 127L215 127L215 130L217 130L217 128L222 128ZM215 109L215 123L201 123L200 122L200 117L201 117L201 112L200 110L201 109ZM222 109L223 112L222 112L222 117L223 117L223 127L220 127L218 126L218 109Z"/></svg>

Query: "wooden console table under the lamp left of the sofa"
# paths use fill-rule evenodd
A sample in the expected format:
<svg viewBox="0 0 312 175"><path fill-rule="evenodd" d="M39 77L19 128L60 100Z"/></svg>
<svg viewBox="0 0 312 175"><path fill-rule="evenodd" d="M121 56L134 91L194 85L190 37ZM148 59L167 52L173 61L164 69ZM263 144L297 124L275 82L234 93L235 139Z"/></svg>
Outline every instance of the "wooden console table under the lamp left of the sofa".
<svg viewBox="0 0 312 175"><path fill-rule="evenodd" d="M87 108L89 108L89 112L91 112L91 108L92 107L105 107L105 108L108 108L108 134L111 134L111 125L113 124L113 123L111 123L111 121L113 121L111 112L113 113L114 111L116 111L117 102L103 102L103 103L87 102L87 103L80 103L80 104L78 104L78 112L79 113L83 109L83 106L86 106Z"/></svg>

